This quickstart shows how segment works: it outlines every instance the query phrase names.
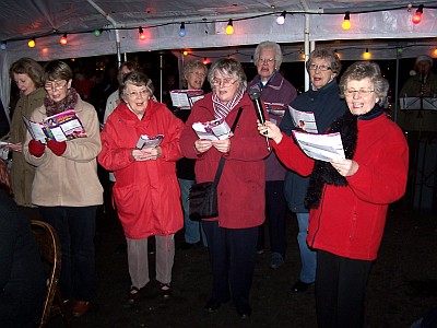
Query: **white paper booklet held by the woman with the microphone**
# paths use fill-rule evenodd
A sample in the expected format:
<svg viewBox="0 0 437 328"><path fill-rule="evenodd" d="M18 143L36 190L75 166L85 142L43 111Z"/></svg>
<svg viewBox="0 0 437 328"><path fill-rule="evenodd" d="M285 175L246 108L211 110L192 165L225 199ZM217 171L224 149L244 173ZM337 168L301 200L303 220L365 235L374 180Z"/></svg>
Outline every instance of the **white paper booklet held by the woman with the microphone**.
<svg viewBox="0 0 437 328"><path fill-rule="evenodd" d="M314 134L293 130L293 136L304 153L311 159L324 162L345 159L343 142L339 132Z"/></svg>

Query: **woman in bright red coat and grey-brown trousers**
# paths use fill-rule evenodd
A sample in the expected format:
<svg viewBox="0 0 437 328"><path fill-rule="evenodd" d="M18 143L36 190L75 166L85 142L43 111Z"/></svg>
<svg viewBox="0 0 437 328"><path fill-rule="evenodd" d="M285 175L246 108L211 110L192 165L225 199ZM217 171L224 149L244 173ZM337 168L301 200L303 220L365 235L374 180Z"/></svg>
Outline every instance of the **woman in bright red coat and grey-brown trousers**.
<svg viewBox="0 0 437 328"><path fill-rule="evenodd" d="M182 229L176 161L181 157L179 136L184 124L153 96L152 80L144 73L128 73L120 85L122 102L108 117L102 136L98 162L113 171L118 218L128 244L131 286L128 302L134 303L150 282L147 238L156 241L156 276L164 298L172 295L175 233ZM138 148L141 136L164 136L161 144Z"/></svg>

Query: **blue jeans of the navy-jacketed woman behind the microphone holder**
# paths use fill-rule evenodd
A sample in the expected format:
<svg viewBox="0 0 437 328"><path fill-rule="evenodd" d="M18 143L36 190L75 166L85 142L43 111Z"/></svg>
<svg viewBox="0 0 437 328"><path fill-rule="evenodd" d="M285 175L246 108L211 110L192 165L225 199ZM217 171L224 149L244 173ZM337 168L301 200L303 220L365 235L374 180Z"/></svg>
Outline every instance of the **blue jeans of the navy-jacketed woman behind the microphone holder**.
<svg viewBox="0 0 437 328"><path fill-rule="evenodd" d="M312 283L316 280L317 255L307 244L309 213L296 213L299 232L297 234L297 244L300 251L300 281Z"/></svg>

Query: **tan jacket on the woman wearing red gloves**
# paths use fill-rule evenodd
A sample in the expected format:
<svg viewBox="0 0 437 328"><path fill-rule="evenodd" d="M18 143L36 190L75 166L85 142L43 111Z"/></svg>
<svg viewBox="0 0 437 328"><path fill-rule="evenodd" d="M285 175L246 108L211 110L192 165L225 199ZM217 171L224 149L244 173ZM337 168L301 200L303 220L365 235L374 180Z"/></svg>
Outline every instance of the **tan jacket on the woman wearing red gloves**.
<svg viewBox="0 0 437 328"><path fill-rule="evenodd" d="M74 110L81 119L87 138L67 141L66 152L55 155L46 148L40 157L28 152L32 140L27 132L23 145L26 161L36 166L32 202L45 207L87 207L103 203L103 188L97 177L97 154L102 143L97 113L88 103L79 99ZM37 108L31 119L42 121L46 108Z"/></svg>

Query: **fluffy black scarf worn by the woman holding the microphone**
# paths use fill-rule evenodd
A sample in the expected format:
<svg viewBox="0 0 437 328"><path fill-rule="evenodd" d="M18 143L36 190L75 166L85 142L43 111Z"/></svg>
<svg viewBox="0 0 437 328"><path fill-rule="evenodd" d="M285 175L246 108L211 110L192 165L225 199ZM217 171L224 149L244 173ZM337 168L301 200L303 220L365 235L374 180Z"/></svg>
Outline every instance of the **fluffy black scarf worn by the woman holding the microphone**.
<svg viewBox="0 0 437 328"><path fill-rule="evenodd" d="M353 159L356 150L358 119L371 119L382 113L383 112L378 105L375 105L370 112L363 115L353 115L347 110L342 117L332 124L329 132L340 132L344 155L347 160ZM308 209L317 209L319 207L324 184L345 187L347 186L347 180L345 177L340 175L329 162L316 161L309 179L307 195L305 197L305 206Z"/></svg>

